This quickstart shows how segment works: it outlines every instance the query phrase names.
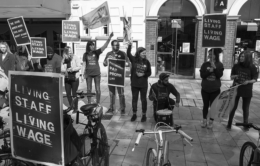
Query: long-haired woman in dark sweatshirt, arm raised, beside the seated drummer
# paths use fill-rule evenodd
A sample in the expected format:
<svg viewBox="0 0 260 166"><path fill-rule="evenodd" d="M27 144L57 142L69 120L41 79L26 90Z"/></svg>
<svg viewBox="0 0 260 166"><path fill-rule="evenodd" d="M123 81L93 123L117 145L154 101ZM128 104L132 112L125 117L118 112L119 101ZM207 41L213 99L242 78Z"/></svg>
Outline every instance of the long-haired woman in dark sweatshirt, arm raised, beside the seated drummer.
<svg viewBox="0 0 260 166"><path fill-rule="evenodd" d="M141 122L146 121L147 99L146 94L148 90L148 77L151 76L151 64L146 57L146 49L144 47L137 48L134 56L131 54L132 45L128 45L127 57L132 64L131 68L131 91L132 91L132 107L133 116L131 121L135 121L137 112L137 102L140 92L142 104L142 118Z"/></svg>

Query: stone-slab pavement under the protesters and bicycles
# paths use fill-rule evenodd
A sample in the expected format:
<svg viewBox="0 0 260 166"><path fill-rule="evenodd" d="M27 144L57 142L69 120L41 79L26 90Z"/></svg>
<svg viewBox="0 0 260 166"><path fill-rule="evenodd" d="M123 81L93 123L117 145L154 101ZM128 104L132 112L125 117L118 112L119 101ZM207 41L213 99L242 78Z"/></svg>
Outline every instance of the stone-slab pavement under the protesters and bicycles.
<svg viewBox="0 0 260 166"><path fill-rule="evenodd" d="M157 82L158 78L149 78L148 82L151 84ZM164 140L169 140L169 160L172 165L239 165L239 153L241 146L249 140L257 144L258 132L250 129L250 132L245 133L242 128L236 127L235 122L243 122L242 103L238 105L236 111L232 130L226 130L225 126L227 120L215 119L212 129L202 128L202 97L200 94L201 80L196 79L173 79L169 77L171 82L181 95L180 107L174 107L173 120L174 124L181 125L186 134L191 136L194 141L191 147L185 140L182 140L176 133L163 134ZM101 77L101 106L103 112L107 110L110 104L109 91L107 88L107 77ZM221 91L228 89L232 81L222 81ZM86 91L86 81L80 83L79 90ZM92 91L95 86L93 81ZM146 165L146 153L149 147L157 148L152 139L142 137L140 143L134 146L138 133L136 129L154 130L155 121L152 117L153 109L150 108L152 101L149 101L147 95L147 120L141 122L141 101L138 102L138 112L136 121L132 122L132 93L130 86L130 78L126 78L125 99L126 99L126 115L121 116L120 112L116 111L110 120L102 120L102 124L106 128L107 137L110 144L109 165L123 165L123 166L138 166ZM149 87L148 87L149 91ZM63 94L65 89L63 86ZM173 95L171 97L175 98ZM140 99L140 97L139 97ZM249 122L254 123L260 127L260 85L255 83L253 87L253 98L249 110ZM93 99L94 100L94 99ZM242 100L242 99L241 99ZM93 101L95 103L95 101ZM79 107L87 104L87 99L79 100ZM68 107L68 101L63 99L64 109ZM117 97L116 108L119 109L119 99ZM9 107L0 109L0 115L3 116L6 122L9 121L8 112ZM80 121L86 120L80 114ZM112 115L112 114L111 114ZM75 118L76 114L72 114ZM73 126L78 133L82 133L83 125ZM8 126L7 126L8 127ZM162 129L165 130L165 129ZM154 135L151 134L154 138Z"/></svg>

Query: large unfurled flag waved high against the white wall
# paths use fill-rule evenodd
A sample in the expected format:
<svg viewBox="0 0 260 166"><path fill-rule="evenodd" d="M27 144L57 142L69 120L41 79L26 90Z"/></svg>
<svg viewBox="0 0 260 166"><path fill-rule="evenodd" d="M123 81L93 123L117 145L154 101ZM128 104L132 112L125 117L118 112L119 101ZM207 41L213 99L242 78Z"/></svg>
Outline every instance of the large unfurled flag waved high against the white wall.
<svg viewBox="0 0 260 166"><path fill-rule="evenodd" d="M82 16L82 22L84 25L84 30L95 29L111 22L110 15L108 11L107 1L97 7L95 10L90 11L88 14Z"/></svg>

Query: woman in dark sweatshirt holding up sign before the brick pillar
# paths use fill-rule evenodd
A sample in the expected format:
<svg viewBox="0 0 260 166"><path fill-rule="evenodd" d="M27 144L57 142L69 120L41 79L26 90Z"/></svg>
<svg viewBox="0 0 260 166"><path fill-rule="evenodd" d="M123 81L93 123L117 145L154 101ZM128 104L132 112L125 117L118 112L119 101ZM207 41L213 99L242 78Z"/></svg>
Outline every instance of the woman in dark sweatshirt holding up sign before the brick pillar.
<svg viewBox="0 0 260 166"><path fill-rule="evenodd" d="M209 119L207 123L207 114L209 112L209 106L220 94L221 81L220 78L223 76L224 66L219 62L219 54L223 53L221 48L214 48L212 53L212 48L208 51L209 61L204 62L200 67L200 77L201 81L201 96L203 101L203 121L201 127L206 127L211 129L213 127L212 118Z"/></svg>

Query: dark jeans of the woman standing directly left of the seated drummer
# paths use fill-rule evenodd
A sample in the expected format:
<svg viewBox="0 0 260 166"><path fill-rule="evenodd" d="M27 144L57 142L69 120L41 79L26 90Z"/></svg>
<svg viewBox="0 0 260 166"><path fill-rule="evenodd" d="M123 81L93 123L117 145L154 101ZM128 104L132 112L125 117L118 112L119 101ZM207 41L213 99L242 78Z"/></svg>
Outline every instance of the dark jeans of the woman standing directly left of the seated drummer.
<svg viewBox="0 0 260 166"><path fill-rule="evenodd" d="M133 114L136 114L136 112L137 112L137 102L138 102L139 91L140 91L140 98L141 98L141 103L142 103L142 114L146 115L146 111L147 111L146 94L147 94L148 87L146 87L146 88L139 88L139 87L131 86L131 90L132 90Z"/></svg>

